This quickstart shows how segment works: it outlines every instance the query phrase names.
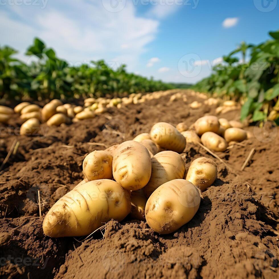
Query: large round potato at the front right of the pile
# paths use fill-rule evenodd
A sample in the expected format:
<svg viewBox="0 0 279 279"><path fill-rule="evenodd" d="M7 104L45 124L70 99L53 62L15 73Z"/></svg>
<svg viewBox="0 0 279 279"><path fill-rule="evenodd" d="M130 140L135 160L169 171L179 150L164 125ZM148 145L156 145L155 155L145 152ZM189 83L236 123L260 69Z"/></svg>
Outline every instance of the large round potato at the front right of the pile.
<svg viewBox="0 0 279 279"><path fill-rule="evenodd" d="M152 193L145 206L145 218L157 233L172 233L188 223L199 206L198 189L187 180L175 179Z"/></svg>

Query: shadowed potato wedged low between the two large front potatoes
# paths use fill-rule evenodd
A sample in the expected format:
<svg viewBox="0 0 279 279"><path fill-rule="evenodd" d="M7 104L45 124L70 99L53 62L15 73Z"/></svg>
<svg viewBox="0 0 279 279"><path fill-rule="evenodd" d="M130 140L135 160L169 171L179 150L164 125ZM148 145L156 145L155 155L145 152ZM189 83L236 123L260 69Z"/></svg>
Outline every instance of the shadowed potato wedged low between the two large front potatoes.
<svg viewBox="0 0 279 279"><path fill-rule="evenodd" d="M143 190L136 190L131 192L131 204L132 209L130 216L132 219L137 219L141 221L145 221L145 205L147 202L147 198L143 193Z"/></svg>

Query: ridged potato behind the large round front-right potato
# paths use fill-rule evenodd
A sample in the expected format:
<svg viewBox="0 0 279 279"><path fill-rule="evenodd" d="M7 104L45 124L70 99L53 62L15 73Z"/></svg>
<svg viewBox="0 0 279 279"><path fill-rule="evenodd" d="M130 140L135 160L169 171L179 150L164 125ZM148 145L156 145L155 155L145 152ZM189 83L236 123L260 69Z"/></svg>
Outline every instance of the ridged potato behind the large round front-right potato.
<svg viewBox="0 0 279 279"><path fill-rule="evenodd" d="M147 198L162 184L184 177L185 165L182 157L173 151L162 151L151 159L151 177L143 188Z"/></svg>

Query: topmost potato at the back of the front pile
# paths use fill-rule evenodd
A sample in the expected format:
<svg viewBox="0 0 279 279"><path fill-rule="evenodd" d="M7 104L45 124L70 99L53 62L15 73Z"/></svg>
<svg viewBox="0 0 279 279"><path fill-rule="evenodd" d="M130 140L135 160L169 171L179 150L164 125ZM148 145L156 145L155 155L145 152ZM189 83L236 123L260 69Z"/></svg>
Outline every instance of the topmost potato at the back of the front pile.
<svg viewBox="0 0 279 279"><path fill-rule="evenodd" d="M159 146L178 153L182 153L186 146L186 139L182 134L166 122L156 123L151 128L150 137Z"/></svg>

